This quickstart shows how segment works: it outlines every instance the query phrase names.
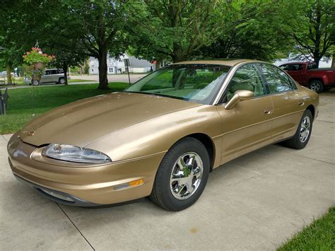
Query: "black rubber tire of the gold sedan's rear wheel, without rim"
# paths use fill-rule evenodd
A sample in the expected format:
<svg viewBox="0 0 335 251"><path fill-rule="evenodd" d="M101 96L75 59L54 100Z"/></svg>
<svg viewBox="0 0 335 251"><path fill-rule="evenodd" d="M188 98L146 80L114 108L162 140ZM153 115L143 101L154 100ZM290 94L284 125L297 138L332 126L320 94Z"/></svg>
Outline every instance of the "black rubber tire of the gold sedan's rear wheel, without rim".
<svg viewBox="0 0 335 251"><path fill-rule="evenodd" d="M304 119L306 117L308 117L310 119L310 129L309 129L309 133L307 135L307 138L305 139L305 141L302 141L302 139L300 138L300 132L302 130L302 122L304 121ZM310 135L312 134L312 126L313 126L312 112L310 112L310 110L305 110L304 114L302 115L302 117L300 119L297 132L295 132L293 138L288 139L287 141L284 141L283 143L286 146L288 146L290 148L294 148L294 149L305 148L305 146L307 145L308 141L310 141Z"/></svg>

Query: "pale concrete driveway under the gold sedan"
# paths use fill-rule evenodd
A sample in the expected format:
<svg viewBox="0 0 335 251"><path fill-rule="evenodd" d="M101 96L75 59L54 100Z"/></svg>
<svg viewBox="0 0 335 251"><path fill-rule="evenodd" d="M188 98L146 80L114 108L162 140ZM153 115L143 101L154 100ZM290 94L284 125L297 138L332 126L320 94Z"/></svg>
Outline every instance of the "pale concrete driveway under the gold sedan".
<svg viewBox="0 0 335 251"><path fill-rule="evenodd" d="M142 199L105 209L51 202L16 181L0 136L0 249L274 250L334 204L335 90L320 95L310 144L268 146L213 170L177 213Z"/></svg>

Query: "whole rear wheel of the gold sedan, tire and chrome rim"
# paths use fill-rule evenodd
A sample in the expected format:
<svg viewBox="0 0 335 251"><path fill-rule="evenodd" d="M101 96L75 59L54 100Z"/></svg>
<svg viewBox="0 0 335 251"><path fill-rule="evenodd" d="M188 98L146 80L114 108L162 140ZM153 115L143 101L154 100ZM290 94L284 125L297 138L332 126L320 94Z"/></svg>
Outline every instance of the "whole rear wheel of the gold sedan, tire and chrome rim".
<svg viewBox="0 0 335 251"><path fill-rule="evenodd" d="M310 112L310 110L305 110L302 118L300 119L297 132L295 132L292 139L288 139L288 141L285 141L284 144L295 149L305 148L308 141L310 141L310 134L312 134L312 122L312 112Z"/></svg>

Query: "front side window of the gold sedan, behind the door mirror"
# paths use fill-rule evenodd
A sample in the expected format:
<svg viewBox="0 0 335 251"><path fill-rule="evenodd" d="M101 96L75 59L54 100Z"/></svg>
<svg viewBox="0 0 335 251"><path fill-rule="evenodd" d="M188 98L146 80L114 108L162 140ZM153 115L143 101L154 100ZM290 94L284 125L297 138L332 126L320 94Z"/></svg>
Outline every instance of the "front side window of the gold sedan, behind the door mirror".
<svg viewBox="0 0 335 251"><path fill-rule="evenodd" d="M223 103L226 103L233 98L236 91L242 90L252 91L255 97L266 94L266 88L264 83L262 83L261 76L259 76L254 64L241 66L235 71L233 78L228 83Z"/></svg>

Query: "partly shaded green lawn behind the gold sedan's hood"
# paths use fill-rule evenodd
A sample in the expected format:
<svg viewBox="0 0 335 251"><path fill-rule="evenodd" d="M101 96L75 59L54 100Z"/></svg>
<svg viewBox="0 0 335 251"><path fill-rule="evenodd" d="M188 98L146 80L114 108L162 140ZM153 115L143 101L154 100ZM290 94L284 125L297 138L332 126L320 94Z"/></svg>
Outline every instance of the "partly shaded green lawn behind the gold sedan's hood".
<svg viewBox="0 0 335 251"><path fill-rule="evenodd" d="M0 134L16 132L30 119L54 107L95 95L122 91L128 87L128 83L110 83L110 90L108 91L97 90L97 87L98 84L30 86L29 88L10 89L8 90L7 115L0 115ZM33 113L35 116L33 116Z"/></svg>

